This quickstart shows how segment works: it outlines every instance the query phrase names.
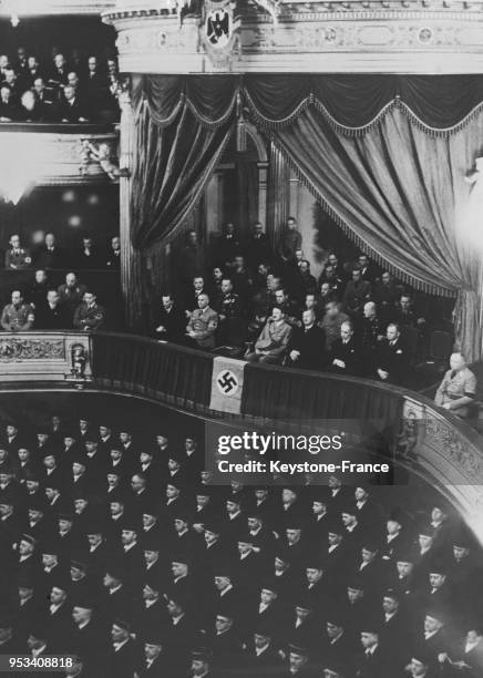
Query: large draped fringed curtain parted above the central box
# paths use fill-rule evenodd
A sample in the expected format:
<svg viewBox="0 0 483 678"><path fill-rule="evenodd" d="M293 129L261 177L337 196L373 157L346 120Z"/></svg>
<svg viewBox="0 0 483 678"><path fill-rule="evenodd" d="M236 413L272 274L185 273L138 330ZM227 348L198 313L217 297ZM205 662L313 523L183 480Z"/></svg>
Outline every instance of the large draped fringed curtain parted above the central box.
<svg viewBox="0 0 483 678"><path fill-rule="evenodd" d="M173 237L243 112L362 249L419 289L458 296L458 340L481 358L483 251L460 222L483 78L151 76L135 100L137 250Z"/></svg>

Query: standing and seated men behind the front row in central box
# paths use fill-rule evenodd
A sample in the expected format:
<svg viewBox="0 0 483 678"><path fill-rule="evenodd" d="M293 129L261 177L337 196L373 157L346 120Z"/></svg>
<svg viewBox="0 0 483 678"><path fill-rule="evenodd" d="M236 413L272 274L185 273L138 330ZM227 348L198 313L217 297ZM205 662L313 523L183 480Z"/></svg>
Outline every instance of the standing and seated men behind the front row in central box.
<svg viewBox="0 0 483 678"><path fill-rule="evenodd" d="M287 220L286 229L278 238L278 245L271 247L260 223L254 224L245 238L237 235L233 224L227 224L223 234L213 246L205 247L199 243L196 232L187 234L187 242L175 255L175 282L181 282L179 291L189 294L193 278L204 277L207 290L219 289L225 275L232 278L235 292L242 300L253 297L254 292L266 286L268 274L282 281L282 287L297 304L302 304L309 292L320 294L343 302L349 312L361 314L363 302L372 299L380 306L381 314L398 302L402 292L414 297L410 287L401 285L369 257L359 256L342 258L329 251L323 270L318 279L310 271L310 263L304 256L304 239L294 217ZM353 273L357 270L358 273ZM451 315L439 299L427 299L420 295L412 309L419 315L412 322L422 325L427 319L441 322L444 315ZM420 307L419 309L415 307ZM441 317L440 317L441 316ZM383 318L392 320L393 318Z"/></svg>

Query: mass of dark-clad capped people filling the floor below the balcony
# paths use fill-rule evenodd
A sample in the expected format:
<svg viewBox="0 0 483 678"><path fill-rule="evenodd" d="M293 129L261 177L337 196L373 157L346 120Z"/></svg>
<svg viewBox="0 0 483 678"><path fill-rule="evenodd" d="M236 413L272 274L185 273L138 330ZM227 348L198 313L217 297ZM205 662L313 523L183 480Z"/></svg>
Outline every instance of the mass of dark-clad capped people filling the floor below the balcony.
<svg viewBox="0 0 483 678"><path fill-rule="evenodd" d="M444 502L338 475L214 486L189 430L97 423L1 427L2 655L73 654L86 678L481 677L482 553Z"/></svg>

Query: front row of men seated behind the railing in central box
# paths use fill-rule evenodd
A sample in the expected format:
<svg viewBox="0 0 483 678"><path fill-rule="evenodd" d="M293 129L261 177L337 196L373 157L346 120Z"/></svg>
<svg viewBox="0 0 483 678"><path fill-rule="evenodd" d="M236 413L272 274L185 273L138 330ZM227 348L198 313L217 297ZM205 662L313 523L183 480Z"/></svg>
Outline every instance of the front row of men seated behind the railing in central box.
<svg viewBox="0 0 483 678"><path fill-rule="evenodd" d="M414 358L409 332L420 340L409 295L386 309L382 320L378 305L369 300L362 315L349 315L336 299L323 300L314 292L298 305L280 287L280 279L269 276L267 288L255 295L253 304L251 315L244 312L228 277L223 277L217 295L206 292L204 279L197 277L184 308L172 294L163 295L152 336L204 350L247 342L245 358L251 362L329 369L393 383L403 383L408 377Z"/></svg>

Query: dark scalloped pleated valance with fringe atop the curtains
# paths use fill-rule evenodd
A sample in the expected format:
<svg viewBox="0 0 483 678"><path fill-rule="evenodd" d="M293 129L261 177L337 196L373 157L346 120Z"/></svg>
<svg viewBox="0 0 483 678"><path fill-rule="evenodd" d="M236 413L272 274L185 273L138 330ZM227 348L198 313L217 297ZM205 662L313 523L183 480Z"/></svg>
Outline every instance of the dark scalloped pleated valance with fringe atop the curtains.
<svg viewBox="0 0 483 678"><path fill-rule="evenodd" d="M461 129L483 107L482 75L144 75L133 90L153 122L169 125L187 105L206 126L223 124L237 101L266 129L317 107L338 132L363 134L394 106L430 134Z"/></svg>

